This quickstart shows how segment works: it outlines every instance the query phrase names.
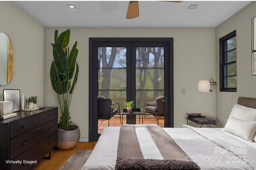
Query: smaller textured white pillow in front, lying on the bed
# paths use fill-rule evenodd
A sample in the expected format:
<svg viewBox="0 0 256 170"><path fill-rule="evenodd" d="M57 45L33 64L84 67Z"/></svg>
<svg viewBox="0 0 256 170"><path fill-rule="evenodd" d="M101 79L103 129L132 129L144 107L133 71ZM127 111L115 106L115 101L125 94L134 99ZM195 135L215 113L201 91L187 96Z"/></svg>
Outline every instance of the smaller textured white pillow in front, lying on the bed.
<svg viewBox="0 0 256 170"><path fill-rule="evenodd" d="M252 142L256 133L256 121L246 121L230 116L223 131Z"/></svg>

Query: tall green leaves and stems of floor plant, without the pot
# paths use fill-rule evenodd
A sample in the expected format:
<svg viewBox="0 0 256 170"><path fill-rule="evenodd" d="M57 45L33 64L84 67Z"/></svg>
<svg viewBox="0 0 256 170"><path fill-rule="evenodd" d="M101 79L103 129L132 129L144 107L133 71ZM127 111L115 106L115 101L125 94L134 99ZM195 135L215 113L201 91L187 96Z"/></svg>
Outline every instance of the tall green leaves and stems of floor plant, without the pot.
<svg viewBox="0 0 256 170"><path fill-rule="evenodd" d="M76 57L77 41L74 43L70 53L68 48L70 30L66 30L58 36L58 30L54 33L54 44L52 43L52 53L54 60L50 68L50 79L53 90L58 94L61 117L58 123L59 129L70 130L68 126L73 124L70 120L69 107L72 94L78 78L78 63ZM74 76L74 70L75 76ZM74 77L74 78L73 78Z"/></svg>

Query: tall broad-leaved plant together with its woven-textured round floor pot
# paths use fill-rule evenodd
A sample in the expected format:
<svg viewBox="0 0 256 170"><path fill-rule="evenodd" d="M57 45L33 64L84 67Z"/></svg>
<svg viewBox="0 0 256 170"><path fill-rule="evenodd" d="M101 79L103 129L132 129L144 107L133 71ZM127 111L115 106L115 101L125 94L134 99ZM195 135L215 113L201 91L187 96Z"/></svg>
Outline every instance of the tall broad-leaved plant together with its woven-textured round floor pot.
<svg viewBox="0 0 256 170"><path fill-rule="evenodd" d="M70 51L68 48L69 37L69 29L59 36L58 30L55 30L54 43L52 43L54 60L50 68L52 88L58 95L61 111L61 117L58 123L57 147L63 150L74 148L80 139L80 130L78 126L74 125L70 120L69 112L73 90L79 72L76 62L78 54L78 49L76 49L77 41Z"/></svg>

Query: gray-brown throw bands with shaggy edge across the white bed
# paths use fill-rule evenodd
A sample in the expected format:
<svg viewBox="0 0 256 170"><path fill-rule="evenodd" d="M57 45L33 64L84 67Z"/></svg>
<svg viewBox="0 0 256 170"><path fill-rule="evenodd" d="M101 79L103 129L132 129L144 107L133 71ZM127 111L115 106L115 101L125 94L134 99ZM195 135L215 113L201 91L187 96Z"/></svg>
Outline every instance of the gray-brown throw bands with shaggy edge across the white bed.
<svg viewBox="0 0 256 170"><path fill-rule="evenodd" d="M144 159L134 126L121 125L115 170L200 170L161 127L145 127L164 160Z"/></svg>

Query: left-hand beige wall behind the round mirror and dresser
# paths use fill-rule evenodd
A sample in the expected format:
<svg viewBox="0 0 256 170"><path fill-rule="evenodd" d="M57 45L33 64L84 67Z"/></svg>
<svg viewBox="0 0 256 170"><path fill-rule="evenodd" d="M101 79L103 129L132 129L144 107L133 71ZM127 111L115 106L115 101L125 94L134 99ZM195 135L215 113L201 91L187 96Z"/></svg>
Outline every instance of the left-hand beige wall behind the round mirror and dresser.
<svg viewBox="0 0 256 170"><path fill-rule="evenodd" d="M12 42L14 70L10 83L3 89L20 89L26 96L37 95L44 106L44 27L12 2L0 2L0 32Z"/></svg>

